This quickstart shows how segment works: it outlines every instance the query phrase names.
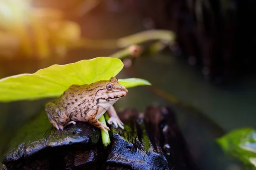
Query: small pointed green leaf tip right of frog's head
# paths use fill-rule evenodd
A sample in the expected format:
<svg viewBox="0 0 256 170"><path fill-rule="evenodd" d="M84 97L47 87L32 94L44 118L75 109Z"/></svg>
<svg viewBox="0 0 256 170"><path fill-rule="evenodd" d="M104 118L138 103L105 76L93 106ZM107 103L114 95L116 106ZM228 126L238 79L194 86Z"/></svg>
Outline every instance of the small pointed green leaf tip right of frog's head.
<svg viewBox="0 0 256 170"><path fill-rule="evenodd" d="M132 88L139 85L151 85L147 80L139 78L118 79L118 82L124 85L125 88Z"/></svg>

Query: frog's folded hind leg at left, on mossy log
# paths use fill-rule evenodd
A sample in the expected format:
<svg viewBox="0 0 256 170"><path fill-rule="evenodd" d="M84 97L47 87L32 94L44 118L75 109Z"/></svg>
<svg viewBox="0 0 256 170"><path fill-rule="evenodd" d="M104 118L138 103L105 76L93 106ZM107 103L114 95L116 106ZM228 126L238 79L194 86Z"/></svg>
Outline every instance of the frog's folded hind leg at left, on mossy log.
<svg viewBox="0 0 256 170"><path fill-rule="evenodd" d="M76 122L70 121L70 116L64 108L57 106L52 102L47 103L45 111L51 124L58 130L63 130L65 126L70 125L71 123L73 123L73 125L76 124Z"/></svg>

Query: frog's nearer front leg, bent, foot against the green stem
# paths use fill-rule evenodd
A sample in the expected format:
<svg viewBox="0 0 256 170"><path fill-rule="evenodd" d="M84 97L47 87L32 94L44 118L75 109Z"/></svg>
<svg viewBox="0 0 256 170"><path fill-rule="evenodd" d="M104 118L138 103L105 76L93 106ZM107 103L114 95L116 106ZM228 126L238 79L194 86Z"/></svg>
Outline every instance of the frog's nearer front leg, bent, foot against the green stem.
<svg viewBox="0 0 256 170"><path fill-rule="evenodd" d="M87 122L89 122L91 125L98 127L102 130L104 130L107 133L107 130L109 130L109 127L104 125L103 123L99 122L99 120L96 118L96 115L98 114L99 109L97 107L91 108L88 113L85 116L85 119Z"/></svg>

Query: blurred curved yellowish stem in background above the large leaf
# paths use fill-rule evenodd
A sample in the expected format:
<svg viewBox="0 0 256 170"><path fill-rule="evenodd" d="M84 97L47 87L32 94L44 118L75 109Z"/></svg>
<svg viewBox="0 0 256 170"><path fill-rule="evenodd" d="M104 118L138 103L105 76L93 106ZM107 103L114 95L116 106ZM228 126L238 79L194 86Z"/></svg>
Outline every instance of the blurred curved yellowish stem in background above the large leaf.
<svg viewBox="0 0 256 170"><path fill-rule="evenodd" d="M147 47L150 52L157 52L163 49L166 45L172 44L175 41L175 34L168 30L146 30L136 34L132 34L126 37L113 40L91 40L88 38L81 38L79 42L70 45L70 48L96 48L96 49L115 49L115 48L125 48L117 53L111 55L113 58L123 59L130 56L131 52L129 47L131 45L143 46L143 43L156 41L149 47Z"/></svg>

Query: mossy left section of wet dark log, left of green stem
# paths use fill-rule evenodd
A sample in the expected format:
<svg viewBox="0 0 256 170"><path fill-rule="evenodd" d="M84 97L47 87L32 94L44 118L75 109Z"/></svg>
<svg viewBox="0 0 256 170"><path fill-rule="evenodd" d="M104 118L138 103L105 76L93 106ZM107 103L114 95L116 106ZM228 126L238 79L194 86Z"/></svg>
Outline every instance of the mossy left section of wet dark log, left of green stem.
<svg viewBox="0 0 256 170"><path fill-rule="evenodd" d="M46 113L42 111L18 130L2 164L8 170L72 167L93 170L101 153L96 147L99 137L100 130L82 122L58 131L49 124Z"/></svg>

